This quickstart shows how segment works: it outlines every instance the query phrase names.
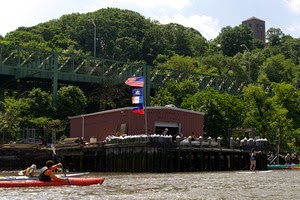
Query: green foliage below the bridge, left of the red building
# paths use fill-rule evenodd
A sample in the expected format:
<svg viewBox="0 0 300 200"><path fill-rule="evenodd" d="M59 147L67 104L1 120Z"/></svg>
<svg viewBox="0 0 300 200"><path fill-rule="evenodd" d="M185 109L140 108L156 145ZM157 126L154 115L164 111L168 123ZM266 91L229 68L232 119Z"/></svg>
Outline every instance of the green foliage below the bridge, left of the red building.
<svg viewBox="0 0 300 200"><path fill-rule="evenodd" d="M58 103L58 107L54 107L49 92L40 88L31 90L21 98L14 93L7 94L5 101L1 102L4 112L0 114L0 133L5 134L6 138L3 142L21 138L24 128L38 130L35 136L42 137L45 142L51 142L53 132L57 135L65 134L69 126L67 117L84 112L86 97L77 87L62 87ZM59 108L56 114L55 108Z"/></svg>

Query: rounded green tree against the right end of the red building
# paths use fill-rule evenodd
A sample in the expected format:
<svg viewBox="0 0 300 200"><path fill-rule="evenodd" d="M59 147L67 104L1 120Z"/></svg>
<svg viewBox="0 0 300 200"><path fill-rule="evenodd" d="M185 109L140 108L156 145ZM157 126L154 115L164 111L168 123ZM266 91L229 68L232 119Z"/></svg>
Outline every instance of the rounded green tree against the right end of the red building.
<svg viewBox="0 0 300 200"><path fill-rule="evenodd" d="M228 142L228 130L239 127L243 120L244 104L237 96L219 94L210 88L189 95L182 108L204 112L204 130L207 136L221 137Z"/></svg>

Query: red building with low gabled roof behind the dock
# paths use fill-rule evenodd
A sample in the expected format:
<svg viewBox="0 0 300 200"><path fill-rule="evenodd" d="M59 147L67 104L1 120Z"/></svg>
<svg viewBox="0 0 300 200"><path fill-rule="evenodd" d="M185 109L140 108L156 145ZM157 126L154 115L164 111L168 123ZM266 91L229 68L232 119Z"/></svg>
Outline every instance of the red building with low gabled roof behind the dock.
<svg viewBox="0 0 300 200"><path fill-rule="evenodd" d="M170 106L147 107L144 115L135 114L132 108L119 108L97 113L69 117L70 137L90 141L103 141L109 135L169 134L184 136L192 132L203 137L204 113ZM145 129L147 127L147 129Z"/></svg>

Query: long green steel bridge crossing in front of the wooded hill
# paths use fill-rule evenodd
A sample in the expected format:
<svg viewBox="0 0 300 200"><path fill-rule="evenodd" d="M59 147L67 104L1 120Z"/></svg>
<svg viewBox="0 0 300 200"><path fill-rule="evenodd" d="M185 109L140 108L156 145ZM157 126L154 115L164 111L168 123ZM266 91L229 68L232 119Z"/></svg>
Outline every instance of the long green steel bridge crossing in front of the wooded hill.
<svg viewBox="0 0 300 200"><path fill-rule="evenodd" d="M192 79L199 83L199 89L213 87L221 92L234 94L241 92L243 86L249 84L249 81L245 80L0 44L1 99L8 82L18 84L22 80L30 80L51 83L55 103L60 83L117 85L124 84L125 80L132 76L145 77L147 99L151 89L163 86L170 79Z"/></svg>

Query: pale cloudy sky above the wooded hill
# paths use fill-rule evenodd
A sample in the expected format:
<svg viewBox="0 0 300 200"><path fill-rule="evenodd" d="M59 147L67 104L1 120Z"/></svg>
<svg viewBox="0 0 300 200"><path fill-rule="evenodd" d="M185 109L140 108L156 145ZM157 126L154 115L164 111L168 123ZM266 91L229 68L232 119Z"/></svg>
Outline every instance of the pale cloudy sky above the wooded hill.
<svg viewBox="0 0 300 200"><path fill-rule="evenodd" d="M192 27L208 40L222 28L239 26L253 16L265 21L266 31L279 28L300 38L300 0L1 0L0 35L108 7L132 10L161 24Z"/></svg>

